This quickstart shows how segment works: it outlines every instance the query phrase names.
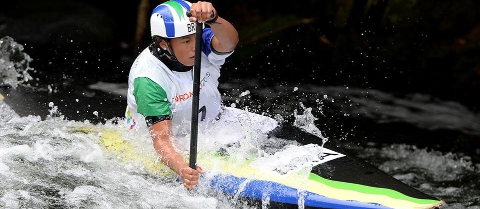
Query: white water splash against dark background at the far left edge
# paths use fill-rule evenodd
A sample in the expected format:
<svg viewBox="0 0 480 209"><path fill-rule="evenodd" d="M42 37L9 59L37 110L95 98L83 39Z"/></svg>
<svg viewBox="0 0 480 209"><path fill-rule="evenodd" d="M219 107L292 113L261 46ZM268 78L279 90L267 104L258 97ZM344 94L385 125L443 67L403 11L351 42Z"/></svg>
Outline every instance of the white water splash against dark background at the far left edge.
<svg viewBox="0 0 480 209"><path fill-rule="evenodd" d="M19 83L32 79L32 59L23 52L23 46L9 36L0 39L0 85L16 88Z"/></svg>

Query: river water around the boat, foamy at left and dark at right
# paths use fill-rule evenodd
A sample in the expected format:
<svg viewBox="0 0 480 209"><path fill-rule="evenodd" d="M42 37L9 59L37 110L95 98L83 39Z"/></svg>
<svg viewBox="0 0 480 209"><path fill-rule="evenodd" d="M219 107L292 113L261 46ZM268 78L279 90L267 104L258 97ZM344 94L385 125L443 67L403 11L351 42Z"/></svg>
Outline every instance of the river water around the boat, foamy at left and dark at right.
<svg viewBox="0 0 480 209"><path fill-rule="evenodd" d="M17 47L2 48L3 84L32 79L29 57L12 58L17 53L12 50L21 51ZM84 88L124 99L125 86L98 82ZM258 80L230 81L219 88L225 106L247 107L284 123L298 125L295 116L311 112L303 123L309 131L339 139L344 149L443 200L445 208L480 209L480 115L460 103L348 86L263 86ZM53 114L54 108L62 111L52 104L51 117L20 116L0 100L0 208L261 207L201 186L200 192L190 193L174 177L125 165L101 149L95 133L71 131L96 127L125 133L117 123L121 119L96 124L67 120ZM135 139L144 149L151 144L145 135ZM263 208L268 208L266 202Z"/></svg>

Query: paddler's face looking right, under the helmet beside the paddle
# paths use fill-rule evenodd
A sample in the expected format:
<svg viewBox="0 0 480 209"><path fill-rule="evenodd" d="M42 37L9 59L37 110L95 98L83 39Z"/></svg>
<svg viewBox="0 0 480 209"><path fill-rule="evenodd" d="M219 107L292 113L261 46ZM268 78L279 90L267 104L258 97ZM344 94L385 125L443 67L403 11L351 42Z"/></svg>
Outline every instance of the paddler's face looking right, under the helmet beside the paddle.
<svg viewBox="0 0 480 209"><path fill-rule="evenodd" d="M175 57L185 66L193 66L195 60L195 34L170 39Z"/></svg>

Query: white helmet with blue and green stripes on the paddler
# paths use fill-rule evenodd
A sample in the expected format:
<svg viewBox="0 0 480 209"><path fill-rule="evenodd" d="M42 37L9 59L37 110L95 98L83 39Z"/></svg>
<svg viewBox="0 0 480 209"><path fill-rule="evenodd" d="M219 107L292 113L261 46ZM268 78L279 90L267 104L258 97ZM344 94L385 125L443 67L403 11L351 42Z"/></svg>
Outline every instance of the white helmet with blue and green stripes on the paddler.
<svg viewBox="0 0 480 209"><path fill-rule="evenodd" d="M151 37L178 38L195 33L186 11L191 3L184 0L168 0L153 9L150 16Z"/></svg>

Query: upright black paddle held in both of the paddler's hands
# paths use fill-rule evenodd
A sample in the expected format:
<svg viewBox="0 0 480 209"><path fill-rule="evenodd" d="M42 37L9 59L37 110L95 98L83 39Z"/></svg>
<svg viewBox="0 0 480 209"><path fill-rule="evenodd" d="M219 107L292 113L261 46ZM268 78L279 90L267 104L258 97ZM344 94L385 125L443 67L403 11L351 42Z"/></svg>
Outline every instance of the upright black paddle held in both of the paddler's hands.
<svg viewBox="0 0 480 209"><path fill-rule="evenodd" d="M190 10L186 11L190 17ZM214 13L211 12L211 17ZM191 97L191 126L190 126L190 162L189 166L196 170L196 145L198 138L198 102L200 99L200 64L201 64L201 42L203 34L203 23L195 22L195 62L193 64L193 96Z"/></svg>

